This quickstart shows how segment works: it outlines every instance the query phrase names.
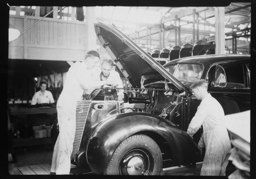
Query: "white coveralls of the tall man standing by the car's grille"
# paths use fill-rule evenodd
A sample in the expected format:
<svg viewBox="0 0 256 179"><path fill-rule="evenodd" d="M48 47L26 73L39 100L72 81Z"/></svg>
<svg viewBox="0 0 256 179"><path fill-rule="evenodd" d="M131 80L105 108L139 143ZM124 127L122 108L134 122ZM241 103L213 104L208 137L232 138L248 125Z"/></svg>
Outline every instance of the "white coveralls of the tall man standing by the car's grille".
<svg viewBox="0 0 256 179"><path fill-rule="evenodd" d="M51 172L69 174L71 153L75 138L76 101L82 99L83 91L99 87L92 81L92 71L86 63L75 62L67 72L65 85L57 101L59 135L54 146Z"/></svg>

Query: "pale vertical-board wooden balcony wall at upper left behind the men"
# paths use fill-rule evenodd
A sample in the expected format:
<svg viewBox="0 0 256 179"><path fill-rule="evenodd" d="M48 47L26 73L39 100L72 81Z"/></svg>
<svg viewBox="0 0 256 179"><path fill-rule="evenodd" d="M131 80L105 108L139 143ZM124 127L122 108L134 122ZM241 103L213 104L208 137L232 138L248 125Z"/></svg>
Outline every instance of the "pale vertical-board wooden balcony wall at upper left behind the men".
<svg viewBox="0 0 256 179"><path fill-rule="evenodd" d="M9 23L20 33L41 17L10 15ZM45 17L9 44L11 59L82 60L86 41L84 21Z"/></svg>

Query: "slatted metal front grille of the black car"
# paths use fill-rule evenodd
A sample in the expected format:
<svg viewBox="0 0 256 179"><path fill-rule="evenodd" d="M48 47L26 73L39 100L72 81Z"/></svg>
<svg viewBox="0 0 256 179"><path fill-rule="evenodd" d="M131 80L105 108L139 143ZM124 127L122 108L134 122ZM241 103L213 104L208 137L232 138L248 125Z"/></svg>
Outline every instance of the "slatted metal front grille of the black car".
<svg viewBox="0 0 256 179"><path fill-rule="evenodd" d="M76 133L75 133L75 140L73 143L73 151L71 154L71 159L74 159L75 154L79 150L84 125L86 124L88 111L91 103L92 103L91 101L76 102ZM78 111L80 112L78 113Z"/></svg>

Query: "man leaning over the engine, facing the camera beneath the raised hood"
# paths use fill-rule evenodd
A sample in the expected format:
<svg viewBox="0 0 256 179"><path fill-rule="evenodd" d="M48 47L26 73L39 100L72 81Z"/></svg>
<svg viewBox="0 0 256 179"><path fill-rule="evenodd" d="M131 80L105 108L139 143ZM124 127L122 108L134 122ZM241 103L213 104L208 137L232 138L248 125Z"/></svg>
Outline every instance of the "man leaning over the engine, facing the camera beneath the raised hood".
<svg viewBox="0 0 256 179"><path fill-rule="evenodd" d="M117 88L123 88L123 82L118 72L113 69L114 63L111 59L103 59L101 71L94 71L93 79L96 81L110 80L114 82ZM90 93L89 90L87 93ZM117 89L117 100L123 100L123 89Z"/></svg>

